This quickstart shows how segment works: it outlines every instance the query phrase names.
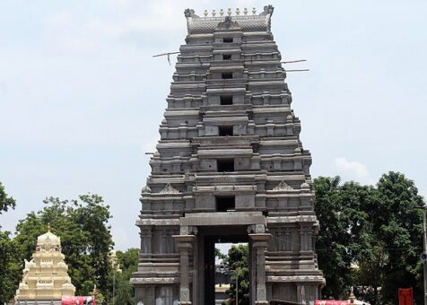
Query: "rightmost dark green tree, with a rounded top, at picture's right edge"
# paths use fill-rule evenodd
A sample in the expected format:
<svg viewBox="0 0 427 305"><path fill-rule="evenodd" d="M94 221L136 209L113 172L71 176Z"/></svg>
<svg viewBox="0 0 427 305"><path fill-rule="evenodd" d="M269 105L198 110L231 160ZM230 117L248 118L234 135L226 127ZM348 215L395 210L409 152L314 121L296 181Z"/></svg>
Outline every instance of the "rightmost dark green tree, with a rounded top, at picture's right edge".
<svg viewBox="0 0 427 305"><path fill-rule="evenodd" d="M417 302L423 301L423 197L414 181L390 171L377 184L378 205L371 206L373 232L385 245L382 266L383 304L396 303L399 287L413 287Z"/></svg>

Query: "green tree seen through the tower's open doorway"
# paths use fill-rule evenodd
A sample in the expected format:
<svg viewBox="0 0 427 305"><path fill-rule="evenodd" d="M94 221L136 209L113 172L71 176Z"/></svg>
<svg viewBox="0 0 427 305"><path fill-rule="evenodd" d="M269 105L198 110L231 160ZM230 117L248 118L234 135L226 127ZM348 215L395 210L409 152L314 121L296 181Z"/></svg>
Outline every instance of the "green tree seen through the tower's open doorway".
<svg viewBox="0 0 427 305"><path fill-rule="evenodd" d="M232 245L229 249L228 256L224 263L236 273L231 275L230 290L228 291L231 298L236 295L236 276L239 283L239 304L249 304L249 252L248 244Z"/></svg>

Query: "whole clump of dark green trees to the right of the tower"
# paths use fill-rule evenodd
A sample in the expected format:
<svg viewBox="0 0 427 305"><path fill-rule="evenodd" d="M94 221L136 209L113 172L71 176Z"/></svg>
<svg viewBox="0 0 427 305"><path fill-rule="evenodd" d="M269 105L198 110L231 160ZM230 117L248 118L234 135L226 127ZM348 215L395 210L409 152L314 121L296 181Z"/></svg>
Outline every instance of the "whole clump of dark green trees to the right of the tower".
<svg viewBox="0 0 427 305"><path fill-rule="evenodd" d="M424 203L414 181L388 172L376 187L341 185L339 177L314 183L323 297L345 298L353 286L371 304L394 304L399 287L413 287L421 301Z"/></svg>

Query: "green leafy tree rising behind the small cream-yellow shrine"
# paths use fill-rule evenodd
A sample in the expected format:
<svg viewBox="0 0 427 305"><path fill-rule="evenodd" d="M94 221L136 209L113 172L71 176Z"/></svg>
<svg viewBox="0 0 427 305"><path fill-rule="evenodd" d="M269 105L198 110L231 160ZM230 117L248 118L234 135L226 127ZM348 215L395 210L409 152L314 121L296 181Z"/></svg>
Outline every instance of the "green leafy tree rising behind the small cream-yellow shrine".
<svg viewBox="0 0 427 305"><path fill-rule="evenodd" d="M94 284L102 295L111 291L112 267L109 251L113 247L110 233L109 205L98 195L83 195L77 200L49 197L38 213L31 212L16 227L15 241L21 259L30 259L37 237L51 231L61 238L62 251L72 283L79 295L90 295Z"/></svg>

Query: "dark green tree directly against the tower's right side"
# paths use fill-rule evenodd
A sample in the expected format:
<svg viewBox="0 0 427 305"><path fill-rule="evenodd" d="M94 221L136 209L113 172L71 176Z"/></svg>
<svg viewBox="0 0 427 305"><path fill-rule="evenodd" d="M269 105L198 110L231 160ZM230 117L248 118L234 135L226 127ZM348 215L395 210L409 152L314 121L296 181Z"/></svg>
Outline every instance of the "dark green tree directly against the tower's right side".
<svg viewBox="0 0 427 305"><path fill-rule="evenodd" d="M369 248L370 222L366 207L373 187L355 182L340 185L339 177L314 179L315 211L320 222L316 248L327 280L323 298L343 299L352 286L352 264Z"/></svg>

